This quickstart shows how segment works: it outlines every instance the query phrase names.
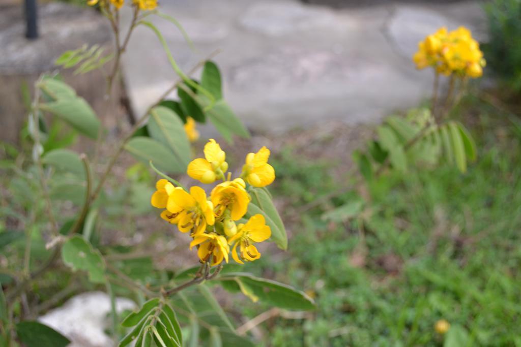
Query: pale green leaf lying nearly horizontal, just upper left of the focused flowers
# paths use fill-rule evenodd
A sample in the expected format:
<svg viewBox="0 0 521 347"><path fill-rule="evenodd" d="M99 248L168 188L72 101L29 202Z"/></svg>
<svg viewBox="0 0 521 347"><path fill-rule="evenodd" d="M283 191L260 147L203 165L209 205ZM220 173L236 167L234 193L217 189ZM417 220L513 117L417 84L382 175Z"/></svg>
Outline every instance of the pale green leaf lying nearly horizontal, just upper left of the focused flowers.
<svg viewBox="0 0 521 347"><path fill-rule="evenodd" d="M145 163L152 161L159 169L172 173L182 173L186 166L180 166L178 159L163 144L144 136L130 139L125 149L136 159Z"/></svg>

